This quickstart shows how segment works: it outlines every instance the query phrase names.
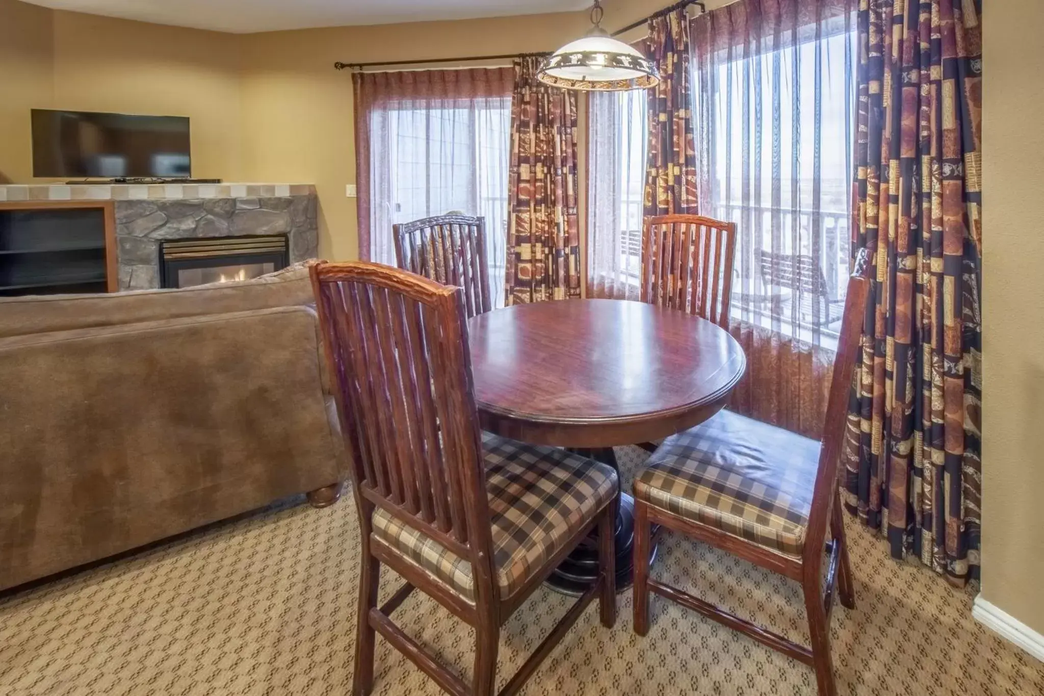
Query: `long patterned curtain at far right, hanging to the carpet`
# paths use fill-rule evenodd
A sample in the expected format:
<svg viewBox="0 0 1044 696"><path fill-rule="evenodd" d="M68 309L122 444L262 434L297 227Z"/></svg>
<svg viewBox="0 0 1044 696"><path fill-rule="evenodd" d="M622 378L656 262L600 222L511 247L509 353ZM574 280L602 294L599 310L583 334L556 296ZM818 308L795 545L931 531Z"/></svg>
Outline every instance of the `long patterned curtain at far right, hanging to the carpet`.
<svg viewBox="0 0 1044 696"><path fill-rule="evenodd" d="M847 505L962 584L978 574L980 0L862 0L857 247L875 256Z"/></svg>

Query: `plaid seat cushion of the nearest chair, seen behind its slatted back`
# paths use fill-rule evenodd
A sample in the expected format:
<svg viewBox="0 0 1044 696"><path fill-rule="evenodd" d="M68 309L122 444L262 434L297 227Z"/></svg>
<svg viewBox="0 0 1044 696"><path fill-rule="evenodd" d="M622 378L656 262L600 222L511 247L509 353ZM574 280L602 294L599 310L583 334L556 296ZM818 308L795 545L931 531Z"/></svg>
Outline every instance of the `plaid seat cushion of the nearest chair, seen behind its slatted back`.
<svg viewBox="0 0 1044 696"><path fill-rule="evenodd" d="M494 570L500 596L507 598L613 499L616 472L565 450L490 433L482 433L482 450ZM474 601L470 560L380 508L372 538Z"/></svg>

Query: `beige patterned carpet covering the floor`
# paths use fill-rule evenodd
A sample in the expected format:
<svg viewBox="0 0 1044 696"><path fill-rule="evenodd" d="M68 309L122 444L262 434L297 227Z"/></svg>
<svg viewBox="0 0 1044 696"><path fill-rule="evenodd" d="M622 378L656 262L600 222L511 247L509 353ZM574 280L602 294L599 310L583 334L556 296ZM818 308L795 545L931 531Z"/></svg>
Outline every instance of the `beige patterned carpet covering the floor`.
<svg viewBox="0 0 1044 696"><path fill-rule="evenodd" d="M618 451L630 488L643 453ZM0 600L0 694L347 694L355 631L358 526L351 497L325 510L300 501L167 543ZM849 526L858 606L833 613L841 694L1044 694L1044 665L971 618L957 592ZM654 573L805 641L797 583L680 537ZM388 575L387 597L398 585ZM505 627L499 686L571 601L539 591ZM631 596L609 631L597 605L544 663L525 694L811 694L810 668L654 599L646 639ZM472 632L414 593L396 614L460 672ZM437 694L378 641L378 694ZM499 688L499 687L498 687Z"/></svg>

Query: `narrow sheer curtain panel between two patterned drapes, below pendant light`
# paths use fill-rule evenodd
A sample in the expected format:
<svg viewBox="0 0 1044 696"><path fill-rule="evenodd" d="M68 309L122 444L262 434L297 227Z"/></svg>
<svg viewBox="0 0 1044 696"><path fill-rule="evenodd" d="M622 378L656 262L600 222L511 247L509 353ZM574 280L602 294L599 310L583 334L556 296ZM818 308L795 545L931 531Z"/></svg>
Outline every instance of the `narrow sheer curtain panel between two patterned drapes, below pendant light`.
<svg viewBox="0 0 1044 696"><path fill-rule="evenodd" d="M588 296L638 299L647 95L588 100Z"/></svg>

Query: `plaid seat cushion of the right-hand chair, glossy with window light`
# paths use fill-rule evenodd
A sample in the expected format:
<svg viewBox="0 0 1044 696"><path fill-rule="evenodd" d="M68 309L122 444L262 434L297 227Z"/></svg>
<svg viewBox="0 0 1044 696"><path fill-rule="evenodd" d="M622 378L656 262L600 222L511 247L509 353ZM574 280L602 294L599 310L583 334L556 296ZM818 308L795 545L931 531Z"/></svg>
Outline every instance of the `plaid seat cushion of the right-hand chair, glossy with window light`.
<svg viewBox="0 0 1044 696"><path fill-rule="evenodd" d="M731 411L672 435L635 498L791 556L805 548L820 443Z"/></svg>

